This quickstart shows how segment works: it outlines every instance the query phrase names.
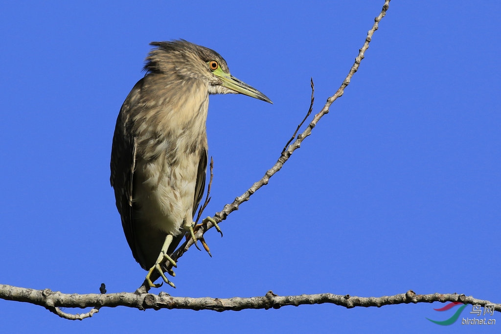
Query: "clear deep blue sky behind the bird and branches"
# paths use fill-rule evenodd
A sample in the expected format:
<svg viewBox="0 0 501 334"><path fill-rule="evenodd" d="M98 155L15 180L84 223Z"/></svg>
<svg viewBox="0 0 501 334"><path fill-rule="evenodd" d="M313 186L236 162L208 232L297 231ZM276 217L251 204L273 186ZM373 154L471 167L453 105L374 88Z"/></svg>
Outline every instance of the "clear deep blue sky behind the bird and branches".
<svg viewBox="0 0 501 334"><path fill-rule="evenodd" d="M133 291L145 271L109 184L116 116L151 41L219 52L270 97L211 96L213 214L270 168L348 73L383 1L5 2L0 283ZM464 293L501 302L499 2L393 1L359 72L284 168L191 249L176 296ZM158 290L157 292L159 292ZM104 308L72 322L0 300L2 332L472 332L444 304L241 312ZM470 316L467 308L464 316ZM82 312L82 310L71 310ZM488 328L487 328L488 327Z"/></svg>

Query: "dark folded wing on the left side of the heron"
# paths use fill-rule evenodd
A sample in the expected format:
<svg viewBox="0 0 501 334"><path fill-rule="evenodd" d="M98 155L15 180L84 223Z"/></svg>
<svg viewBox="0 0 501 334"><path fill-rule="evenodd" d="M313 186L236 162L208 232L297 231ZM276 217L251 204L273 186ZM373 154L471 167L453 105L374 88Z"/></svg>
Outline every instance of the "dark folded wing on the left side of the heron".
<svg viewBox="0 0 501 334"><path fill-rule="evenodd" d="M136 140L127 129L127 121L134 104L133 102L139 97L141 81L138 82L129 93L129 96L118 114L115 132L113 134L110 163L110 183L115 190L117 209L122 218L125 238L136 259L137 254L132 226L134 218L132 207L132 179L136 163Z"/></svg>

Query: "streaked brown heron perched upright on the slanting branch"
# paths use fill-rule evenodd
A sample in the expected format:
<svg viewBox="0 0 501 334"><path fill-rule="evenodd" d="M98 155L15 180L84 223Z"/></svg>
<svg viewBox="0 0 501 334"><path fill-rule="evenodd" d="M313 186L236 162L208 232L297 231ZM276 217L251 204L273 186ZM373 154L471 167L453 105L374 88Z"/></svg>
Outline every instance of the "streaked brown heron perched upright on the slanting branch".
<svg viewBox="0 0 501 334"><path fill-rule="evenodd" d="M117 117L110 183L125 238L149 287L174 276L171 255L184 235L193 241L193 217L205 188L209 95L244 94L272 101L233 77L215 51L185 40L151 42L144 77Z"/></svg>

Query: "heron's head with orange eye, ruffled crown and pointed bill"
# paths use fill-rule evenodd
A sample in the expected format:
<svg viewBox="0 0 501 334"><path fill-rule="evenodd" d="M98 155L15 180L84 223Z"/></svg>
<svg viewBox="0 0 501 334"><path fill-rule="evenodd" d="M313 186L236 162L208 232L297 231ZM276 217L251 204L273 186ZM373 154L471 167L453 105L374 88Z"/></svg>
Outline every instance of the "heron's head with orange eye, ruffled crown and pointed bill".
<svg viewBox="0 0 501 334"><path fill-rule="evenodd" d="M202 80L209 94L244 94L272 103L265 94L233 77L226 61L214 50L184 40L150 45L156 48L146 58L144 69L148 73L175 76L181 82L183 78Z"/></svg>

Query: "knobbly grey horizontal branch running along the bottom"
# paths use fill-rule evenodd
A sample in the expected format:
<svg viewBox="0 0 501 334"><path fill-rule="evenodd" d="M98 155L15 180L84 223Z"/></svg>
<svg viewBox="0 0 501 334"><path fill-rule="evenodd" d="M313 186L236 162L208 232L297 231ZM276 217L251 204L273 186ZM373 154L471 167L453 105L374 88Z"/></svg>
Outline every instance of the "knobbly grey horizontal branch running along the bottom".
<svg viewBox="0 0 501 334"><path fill-rule="evenodd" d="M126 306L138 309L192 309L201 310L208 309L213 311L233 310L239 311L242 309L269 309L280 308L283 306L293 305L299 306L304 304L323 304L330 303L346 308L357 306L362 307L381 307L384 305L393 304L409 304L418 302L446 302L459 301L471 305L486 305L492 304L488 300L465 296L464 294L416 294L409 290L406 293L396 294L392 296L382 297L357 297L350 295L340 295L332 293L321 294L302 294L296 296L279 296L272 291L268 291L264 296L257 297L234 297L234 298L190 298L190 297L173 297L165 292L159 294L152 293L135 293L135 292L120 292L108 294L68 294L58 291L35 290L23 287L0 284L0 298L6 300L24 301L32 304L44 306L54 312L57 307L85 308L85 307L117 307ZM501 312L501 304L494 304L494 310ZM95 309L93 313L98 310ZM59 311L61 312L61 311ZM57 313L57 312L55 312ZM62 313L62 312L61 312ZM91 313L91 312L89 312ZM58 313L59 314L59 313ZM68 314L68 313L64 313ZM63 316L59 314L60 316ZM70 314L71 315L71 314ZM92 316L90 314L89 316ZM63 316L69 318L68 316ZM79 317L76 317L79 318Z"/></svg>

